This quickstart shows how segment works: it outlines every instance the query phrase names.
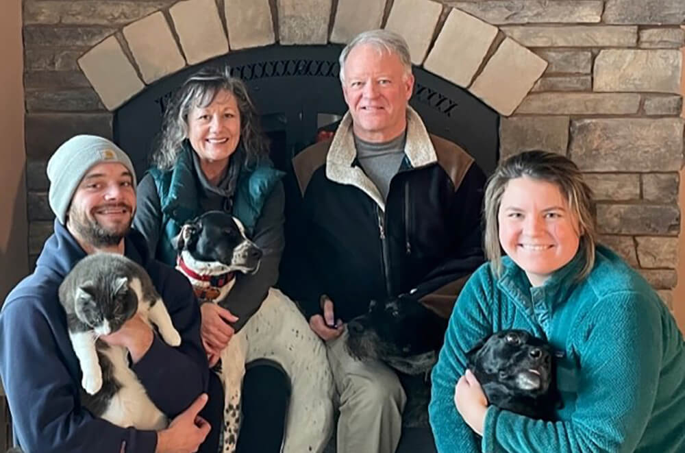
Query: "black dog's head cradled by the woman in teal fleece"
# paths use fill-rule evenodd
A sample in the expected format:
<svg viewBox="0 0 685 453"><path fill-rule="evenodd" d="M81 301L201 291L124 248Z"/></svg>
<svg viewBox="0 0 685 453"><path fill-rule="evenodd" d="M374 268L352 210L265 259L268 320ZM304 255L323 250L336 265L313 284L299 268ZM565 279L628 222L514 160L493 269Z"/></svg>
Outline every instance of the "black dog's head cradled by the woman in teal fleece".
<svg viewBox="0 0 685 453"><path fill-rule="evenodd" d="M467 358L490 404L553 421L560 400L553 355L547 341L525 330L503 330L478 343Z"/></svg>

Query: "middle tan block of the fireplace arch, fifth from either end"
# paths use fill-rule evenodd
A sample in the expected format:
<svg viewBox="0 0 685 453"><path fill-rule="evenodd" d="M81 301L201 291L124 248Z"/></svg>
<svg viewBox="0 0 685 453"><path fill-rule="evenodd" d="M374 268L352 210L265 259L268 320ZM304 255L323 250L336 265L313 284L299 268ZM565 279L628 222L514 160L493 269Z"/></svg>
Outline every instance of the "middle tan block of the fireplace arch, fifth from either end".
<svg viewBox="0 0 685 453"><path fill-rule="evenodd" d="M333 0L278 0L281 44L326 44Z"/></svg>

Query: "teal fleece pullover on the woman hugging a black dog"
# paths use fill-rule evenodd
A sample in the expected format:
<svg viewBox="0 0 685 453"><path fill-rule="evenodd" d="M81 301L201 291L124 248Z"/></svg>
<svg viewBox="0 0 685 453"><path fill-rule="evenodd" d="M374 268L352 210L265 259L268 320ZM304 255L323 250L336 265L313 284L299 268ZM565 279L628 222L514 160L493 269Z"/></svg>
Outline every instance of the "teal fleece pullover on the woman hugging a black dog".
<svg viewBox="0 0 685 453"><path fill-rule="evenodd" d="M430 423L438 451L509 453L685 452L685 343L651 286L606 247L577 281L576 256L543 286L503 258L466 283L432 372ZM490 406L482 441L454 404L466 352L485 336L523 329L563 357L556 422Z"/></svg>

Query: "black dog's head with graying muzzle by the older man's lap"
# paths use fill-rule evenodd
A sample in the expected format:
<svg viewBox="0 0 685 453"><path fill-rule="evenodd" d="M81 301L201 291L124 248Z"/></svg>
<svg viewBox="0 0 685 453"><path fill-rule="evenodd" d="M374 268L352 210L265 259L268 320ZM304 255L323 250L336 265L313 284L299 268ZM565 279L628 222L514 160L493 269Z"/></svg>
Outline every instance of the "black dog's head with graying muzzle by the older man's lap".
<svg viewBox="0 0 685 453"><path fill-rule="evenodd" d="M390 361L435 352L443 343L447 322L421 303L402 295L371 301L369 312L347 324L347 349L360 359Z"/></svg>

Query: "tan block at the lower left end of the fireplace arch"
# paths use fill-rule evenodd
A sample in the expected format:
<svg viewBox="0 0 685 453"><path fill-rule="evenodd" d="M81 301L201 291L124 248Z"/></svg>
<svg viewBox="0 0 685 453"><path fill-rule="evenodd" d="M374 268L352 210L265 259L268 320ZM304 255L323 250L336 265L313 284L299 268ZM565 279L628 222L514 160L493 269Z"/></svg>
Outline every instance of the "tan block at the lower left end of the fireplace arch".
<svg viewBox="0 0 685 453"><path fill-rule="evenodd" d="M108 110L119 108L145 88L114 36L90 49L78 64Z"/></svg>

